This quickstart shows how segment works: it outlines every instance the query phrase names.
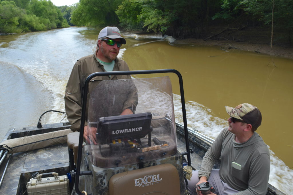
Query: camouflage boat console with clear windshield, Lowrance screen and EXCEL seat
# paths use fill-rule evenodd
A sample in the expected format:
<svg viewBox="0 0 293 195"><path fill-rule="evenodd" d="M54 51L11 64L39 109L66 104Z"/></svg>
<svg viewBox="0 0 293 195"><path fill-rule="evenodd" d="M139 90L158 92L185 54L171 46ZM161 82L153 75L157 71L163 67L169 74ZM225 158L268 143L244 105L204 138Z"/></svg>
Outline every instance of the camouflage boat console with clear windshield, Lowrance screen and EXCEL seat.
<svg viewBox="0 0 293 195"><path fill-rule="evenodd" d="M128 109L133 114L121 114ZM104 80L91 93L79 190L185 194L169 77ZM129 192L129 193L127 193Z"/></svg>

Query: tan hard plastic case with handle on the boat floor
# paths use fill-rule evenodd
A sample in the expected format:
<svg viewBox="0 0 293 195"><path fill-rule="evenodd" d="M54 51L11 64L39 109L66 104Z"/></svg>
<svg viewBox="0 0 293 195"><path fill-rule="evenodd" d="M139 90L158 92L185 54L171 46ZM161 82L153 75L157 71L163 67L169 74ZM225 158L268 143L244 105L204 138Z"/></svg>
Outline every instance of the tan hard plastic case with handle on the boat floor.
<svg viewBox="0 0 293 195"><path fill-rule="evenodd" d="M54 175L54 177L44 177ZM67 175L59 176L58 173L44 173L37 176L36 179L30 179L26 185L28 195L68 195L69 194L69 180Z"/></svg>

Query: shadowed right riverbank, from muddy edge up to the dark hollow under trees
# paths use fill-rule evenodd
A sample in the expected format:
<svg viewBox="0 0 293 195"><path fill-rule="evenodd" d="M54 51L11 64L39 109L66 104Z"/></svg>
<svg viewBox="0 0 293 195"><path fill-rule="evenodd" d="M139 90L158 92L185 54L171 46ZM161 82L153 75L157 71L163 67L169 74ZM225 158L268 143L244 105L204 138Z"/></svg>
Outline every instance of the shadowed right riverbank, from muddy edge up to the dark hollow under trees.
<svg viewBox="0 0 293 195"><path fill-rule="evenodd" d="M227 51L229 51L229 49L236 48L271 55L270 26L250 26L241 30L231 29L233 28L229 28L228 26L212 25L208 30L203 30L200 34L202 39L195 39L197 37L188 37L189 39L176 40L176 43L221 46ZM274 56L293 59L293 47L290 46L288 33L284 31L274 31L272 54Z"/></svg>

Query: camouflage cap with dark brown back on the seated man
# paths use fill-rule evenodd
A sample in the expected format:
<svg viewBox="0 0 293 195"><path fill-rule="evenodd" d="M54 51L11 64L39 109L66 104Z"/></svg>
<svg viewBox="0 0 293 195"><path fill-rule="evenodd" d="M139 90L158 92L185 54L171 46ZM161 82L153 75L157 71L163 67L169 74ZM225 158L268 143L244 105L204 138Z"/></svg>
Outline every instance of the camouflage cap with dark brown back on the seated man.
<svg viewBox="0 0 293 195"><path fill-rule="evenodd" d="M247 124L251 124L252 127L258 128L261 124L261 113L259 109L249 103L241 103L235 108L225 106L227 113L240 120L243 120Z"/></svg>

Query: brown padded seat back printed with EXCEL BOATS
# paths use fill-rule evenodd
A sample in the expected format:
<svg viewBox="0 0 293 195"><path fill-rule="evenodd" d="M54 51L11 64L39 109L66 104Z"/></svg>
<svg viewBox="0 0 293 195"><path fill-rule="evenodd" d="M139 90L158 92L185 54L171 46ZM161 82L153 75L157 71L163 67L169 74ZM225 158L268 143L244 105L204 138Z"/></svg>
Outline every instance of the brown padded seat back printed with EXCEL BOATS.
<svg viewBox="0 0 293 195"><path fill-rule="evenodd" d="M169 163L113 175L109 195L180 194L178 171Z"/></svg>

